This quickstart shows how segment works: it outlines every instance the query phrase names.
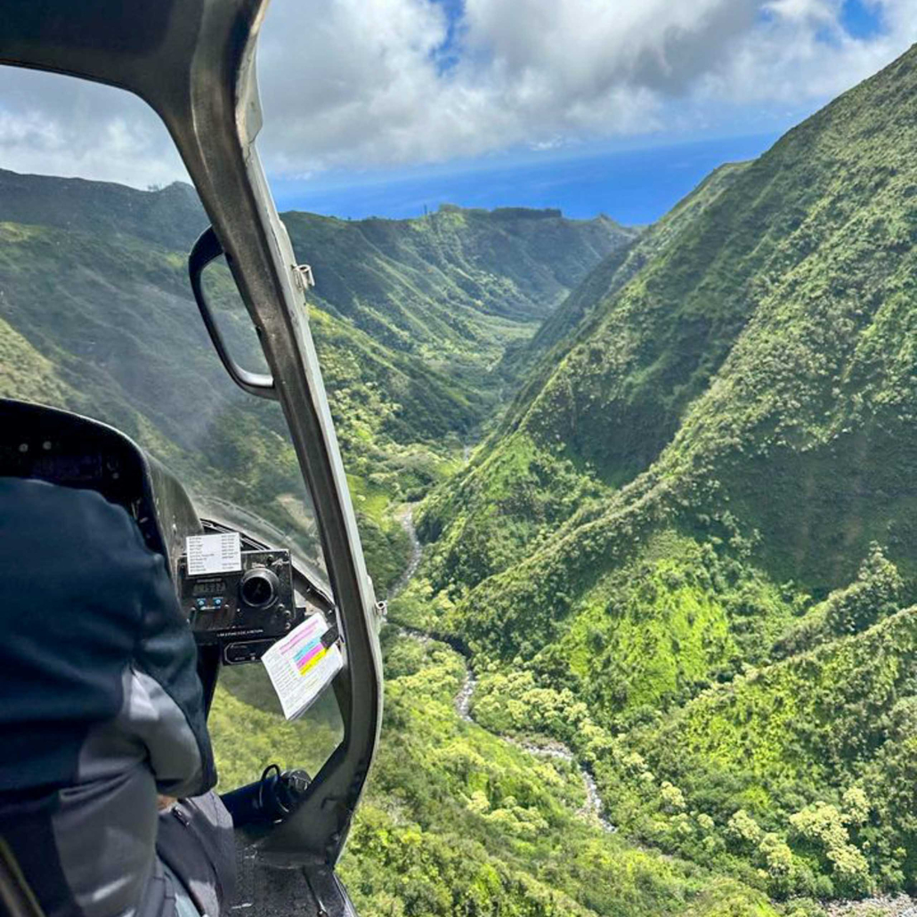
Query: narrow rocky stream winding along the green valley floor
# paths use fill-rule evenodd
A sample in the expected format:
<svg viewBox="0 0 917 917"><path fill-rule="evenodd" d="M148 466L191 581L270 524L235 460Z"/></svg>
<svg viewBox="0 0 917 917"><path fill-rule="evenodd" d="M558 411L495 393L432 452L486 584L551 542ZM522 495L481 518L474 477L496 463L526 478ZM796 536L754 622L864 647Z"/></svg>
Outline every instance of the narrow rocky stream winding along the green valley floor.
<svg viewBox="0 0 917 917"><path fill-rule="evenodd" d="M392 591L389 593L390 599L394 599L407 588L407 584L411 581L414 573L417 571L417 567L420 565L420 558L423 550L420 540L417 537L417 532L414 529L414 510L410 506L405 508L400 515L400 520L404 527L404 531L411 539L411 558L408 560L408 564L404 568L401 578L392 586ZM436 639L433 635L425 634L423 631L415 630L412 627L396 625L396 630L399 635L418 640L421 643L429 643L432 639ZM474 697L474 690L477 687L478 679L470 668L467 651L455 644L451 646L465 662L465 679L455 698L456 713L458 713L459 718L466 723L480 725L475 721L474 717L471 716L471 699ZM592 777L590 771L577 761L576 756L574 756L568 746L553 739L544 745L536 745L534 742L526 742L509 735L498 735L498 738L503 739L508 745L523 749L523 751L528 752L530 755L559 758L560 760L569 761L569 763L577 765L580 770L583 788L586 790L586 802L579 810L578 814L591 823L598 823L603 831L612 834L617 831L617 828L602 814L602 797L599 796L599 790L595 785L595 779Z"/></svg>

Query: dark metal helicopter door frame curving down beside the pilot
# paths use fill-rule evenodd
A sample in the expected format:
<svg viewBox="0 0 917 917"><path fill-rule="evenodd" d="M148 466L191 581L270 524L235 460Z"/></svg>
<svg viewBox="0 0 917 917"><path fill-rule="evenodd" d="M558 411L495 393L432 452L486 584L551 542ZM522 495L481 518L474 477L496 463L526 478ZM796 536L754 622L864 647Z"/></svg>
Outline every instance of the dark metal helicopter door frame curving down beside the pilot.
<svg viewBox="0 0 917 917"><path fill-rule="evenodd" d="M127 89L168 127L271 369L315 502L348 665L345 736L263 849L334 866L379 743L377 612L337 446L304 284L261 168L255 53L268 0L0 0L0 63ZM125 10L129 11L129 15Z"/></svg>

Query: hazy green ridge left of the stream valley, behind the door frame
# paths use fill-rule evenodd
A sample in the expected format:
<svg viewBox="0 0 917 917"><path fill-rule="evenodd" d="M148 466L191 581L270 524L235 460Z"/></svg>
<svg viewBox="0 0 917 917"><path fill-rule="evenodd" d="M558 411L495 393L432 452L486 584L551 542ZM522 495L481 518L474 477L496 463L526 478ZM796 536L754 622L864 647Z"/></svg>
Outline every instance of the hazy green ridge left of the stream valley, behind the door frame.
<svg viewBox="0 0 917 917"><path fill-rule="evenodd" d="M271 481L270 456L251 436L271 411L228 383L189 297L185 249L206 225L193 190L0 171L0 202L5 367L23 359L24 338L50 359L39 371L55 381L51 400L138 436L195 485L215 476L236 502L264 503L273 524L294 525L277 503L295 489L292 453L283 447L287 473ZM565 284L631 233L552 211L455 207L414 221L285 219L304 260L321 253L312 327L384 590L408 550L387 504L443 475L499 402L488 368L505 344L531 334ZM499 296L481 293L488 279ZM234 349L253 355L244 312L224 315ZM279 416L268 425L280 435Z"/></svg>

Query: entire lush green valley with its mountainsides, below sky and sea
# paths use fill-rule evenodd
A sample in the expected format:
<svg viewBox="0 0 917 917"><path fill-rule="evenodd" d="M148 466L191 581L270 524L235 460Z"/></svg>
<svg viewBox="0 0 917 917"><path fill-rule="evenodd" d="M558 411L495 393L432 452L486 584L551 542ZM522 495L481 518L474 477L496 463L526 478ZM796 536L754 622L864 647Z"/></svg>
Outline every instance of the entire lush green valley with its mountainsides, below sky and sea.
<svg viewBox="0 0 917 917"><path fill-rule="evenodd" d="M390 613L469 654L385 634L342 864L363 913L814 917L917 892L915 90L917 50L638 237L288 215L370 569L397 580L414 503L424 559ZM29 218L4 182L4 391L102 413L308 540L280 418L227 388L159 199L125 193L149 228L116 232L91 188ZM269 697L227 680L227 781L334 745L330 708L304 735ZM530 747L557 743L575 762Z"/></svg>

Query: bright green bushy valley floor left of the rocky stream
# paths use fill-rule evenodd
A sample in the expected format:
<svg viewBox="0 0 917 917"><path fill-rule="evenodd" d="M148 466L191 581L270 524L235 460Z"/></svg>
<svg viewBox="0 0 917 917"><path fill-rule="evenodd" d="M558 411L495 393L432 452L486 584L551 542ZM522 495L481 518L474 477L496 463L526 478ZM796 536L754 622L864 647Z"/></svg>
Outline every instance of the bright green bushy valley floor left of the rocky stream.
<svg viewBox="0 0 917 917"><path fill-rule="evenodd" d="M465 664L446 645L388 628L383 648L385 738L341 866L360 914L775 917L745 883L581 818L582 781L568 762L463 722L454 698ZM217 697L213 732L217 753L232 762L227 784L257 777L266 757L320 760L333 738L327 714L287 724L267 713L268 695L233 679Z"/></svg>

